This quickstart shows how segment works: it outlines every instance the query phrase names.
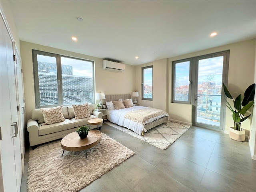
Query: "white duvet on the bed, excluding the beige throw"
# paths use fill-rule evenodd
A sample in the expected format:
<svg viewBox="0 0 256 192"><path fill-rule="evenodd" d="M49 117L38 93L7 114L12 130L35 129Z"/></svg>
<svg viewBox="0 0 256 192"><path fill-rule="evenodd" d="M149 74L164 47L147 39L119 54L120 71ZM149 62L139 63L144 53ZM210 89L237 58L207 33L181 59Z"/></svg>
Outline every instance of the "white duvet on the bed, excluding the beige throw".
<svg viewBox="0 0 256 192"><path fill-rule="evenodd" d="M161 116L157 116L155 118L150 118L148 121L144 122L144 125L139 124L138 122L134 122L132 120L129 119L125 119L124 116L126 115L126 113L130 112L130 111L136 111L139 109L144 109L147 107L143 107L143 106L134 106L134 107L129 107L129 108L124 108L124 109L119 109L119 110L107 110L107 117L108 120L112 123L118 124L120 126L126 127L130 130L133 130L134 132L136 132L137 134L141 134L142 131L144 130L145 132L147 131L146 129L144 129L144 125L151 123L155 120L158 120L164 116L168 116L168 115L161 115Z"/></svg>

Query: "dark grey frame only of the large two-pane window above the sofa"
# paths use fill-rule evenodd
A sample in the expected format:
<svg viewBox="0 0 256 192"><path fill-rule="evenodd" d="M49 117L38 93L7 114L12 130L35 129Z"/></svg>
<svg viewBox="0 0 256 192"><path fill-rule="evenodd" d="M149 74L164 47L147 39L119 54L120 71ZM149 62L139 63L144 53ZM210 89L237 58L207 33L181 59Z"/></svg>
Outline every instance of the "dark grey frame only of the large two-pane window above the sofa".
<svg viewBox="0 0 256 192"><path fill-rule="evenodd" d="M57 86L58 86L58 104L51 104L51 105L40 105L40 91L39 91L39 76L38 76L38 60L37 55L44 55L56 58L56 72L57 72ZM95 103L95 77L94 77L94 69L95 64L92 60L86 60L82 58L75 58L72 56L54 54L39 50L32 49L32 59L33 59L33 72L34 72L34 90L35 90L35 100L36 100L36 108L48 108L48 107L56 107L63 105L63 92L62 92L62 64L61 64L61 57L65 58L72 58L76 60L82 60L86 62L92 62L92 102ZM86 101L84 101L86 102ZM84 102L80 102L81 104ZM72 103L73 104L73 103ZM79 104L79 103L76 103ZM70 105L70 104L65 104Z"/></svg>

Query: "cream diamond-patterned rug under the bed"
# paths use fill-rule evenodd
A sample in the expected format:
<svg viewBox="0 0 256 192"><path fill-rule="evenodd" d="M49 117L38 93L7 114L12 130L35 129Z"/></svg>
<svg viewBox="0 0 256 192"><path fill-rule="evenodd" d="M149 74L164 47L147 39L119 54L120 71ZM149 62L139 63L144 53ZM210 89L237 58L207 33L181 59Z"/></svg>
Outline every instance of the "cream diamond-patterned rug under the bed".
<svg viewBox="0 0 256 192"><path fill-rule="evenodd" d="M190 128L189 125L168 121L167 123L160 124L155 128L148 130L144 133L144 136L142 136L128 128L119 126L110 121L105 123L162 150L168 148L168 146L170 146Z"/></svg>

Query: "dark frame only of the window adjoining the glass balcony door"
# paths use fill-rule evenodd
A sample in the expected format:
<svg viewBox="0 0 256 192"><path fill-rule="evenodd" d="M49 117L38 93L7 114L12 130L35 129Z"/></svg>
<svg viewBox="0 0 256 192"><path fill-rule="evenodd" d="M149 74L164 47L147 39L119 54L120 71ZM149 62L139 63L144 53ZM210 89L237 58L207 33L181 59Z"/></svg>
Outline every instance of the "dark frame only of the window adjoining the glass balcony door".
<svg viewBox="0 0 256 192"><path fill-rule="evenodd" d="M176 64L189 61L189 84L188 84L188 101L175 100L175 86L176 86ZM172 103L191 104L191 85L192 85L192 58L177 60L172 62Z"/></svg>

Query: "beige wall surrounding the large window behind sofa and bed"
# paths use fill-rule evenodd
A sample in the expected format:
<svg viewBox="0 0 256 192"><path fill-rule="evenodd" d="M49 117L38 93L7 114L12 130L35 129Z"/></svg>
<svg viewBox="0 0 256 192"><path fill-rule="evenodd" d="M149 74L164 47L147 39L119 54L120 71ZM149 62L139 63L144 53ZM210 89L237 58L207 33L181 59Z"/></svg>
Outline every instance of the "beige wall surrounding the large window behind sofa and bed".
<svg viewBox="0 0 256 192"><path fill-rule="evenodd" d="M31 118L31 110L36 107L34 92L34 76L32 63L32 49L50 53L62 54L87 60L93 60L95 63L95 82L96 92L105 92L105 94L132 94L135 79L135 66L127 65L124 72L105 70L102 68L102 59L29 42L20 41L20 50L23 64L24 94L26 119ZM96 100L96 103L99 101Z"/></svg>

